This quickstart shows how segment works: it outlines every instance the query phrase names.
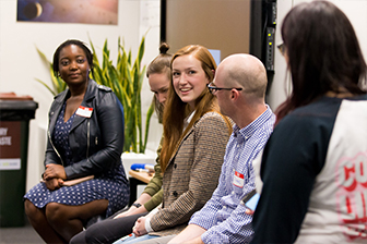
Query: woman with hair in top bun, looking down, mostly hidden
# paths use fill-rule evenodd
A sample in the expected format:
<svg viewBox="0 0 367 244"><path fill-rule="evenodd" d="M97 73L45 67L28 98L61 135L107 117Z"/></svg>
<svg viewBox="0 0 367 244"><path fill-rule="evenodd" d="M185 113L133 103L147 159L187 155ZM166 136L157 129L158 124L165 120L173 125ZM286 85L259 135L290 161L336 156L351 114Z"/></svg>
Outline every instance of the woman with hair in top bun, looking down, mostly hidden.
<svg viewBox="0 0 367 244"><path fill-rule="evenodd" d="M171 54L167 53L169 49L167 44L162 44L159 47L159 54L147 65L146 76L151 90L154 93L155 111L158 115L159 122L162 122L163 107L167 99L170 73L170 60ZM141 196L132 204L132 206L117 216L97 222L91 225L86 231L76 234L71 241L71 244L82 243L113 243L116 240L128 235L132 232L137 219L141 216L145 216L156 206L162 203L163 191L159 155L162 150L161 139L159 147L157 149L156 164L154 167L155 173L153 179L144 188Z"/></svg>

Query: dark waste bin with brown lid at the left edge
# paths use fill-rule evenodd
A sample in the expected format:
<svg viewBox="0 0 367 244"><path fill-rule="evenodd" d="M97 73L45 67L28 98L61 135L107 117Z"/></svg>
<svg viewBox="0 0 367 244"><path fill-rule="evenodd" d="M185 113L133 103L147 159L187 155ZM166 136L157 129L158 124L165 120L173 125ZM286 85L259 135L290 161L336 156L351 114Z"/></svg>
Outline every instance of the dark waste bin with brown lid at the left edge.
<svg viewBox="0 0 367 244"><path fill-rule="evenodd" d="M0 94L0 227L25 224L28 130L37 108L29 96Z"/></svg>

